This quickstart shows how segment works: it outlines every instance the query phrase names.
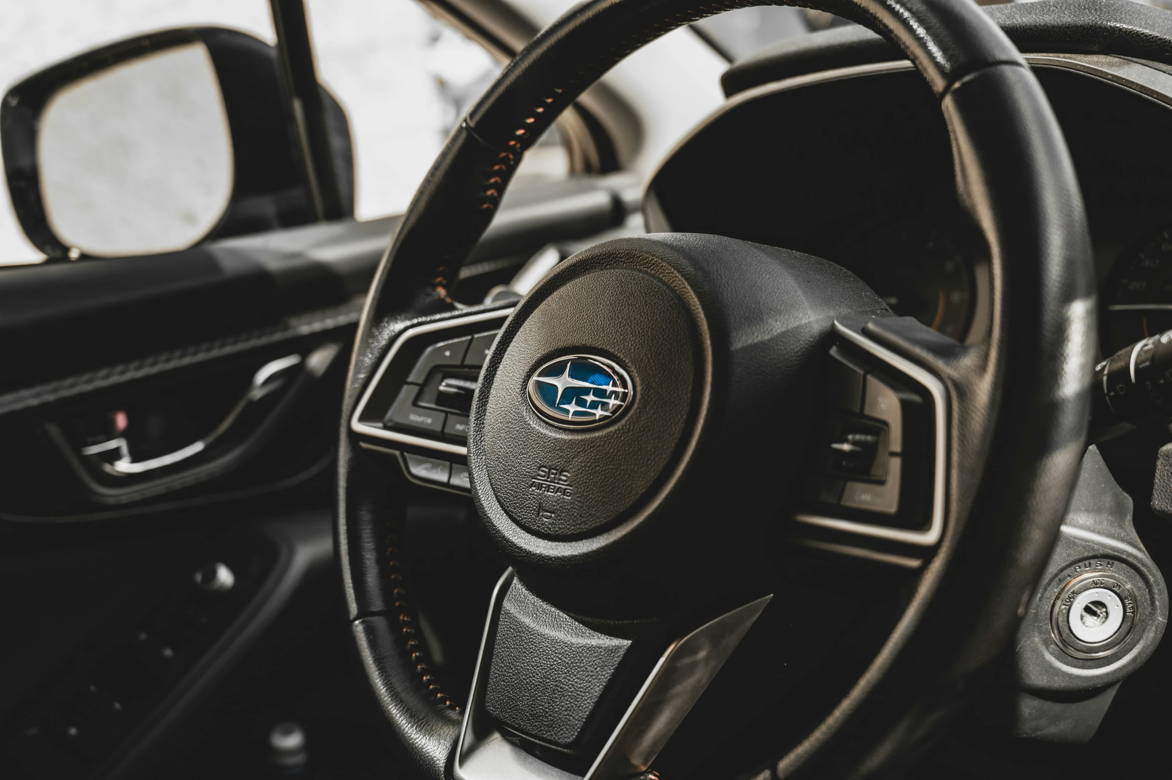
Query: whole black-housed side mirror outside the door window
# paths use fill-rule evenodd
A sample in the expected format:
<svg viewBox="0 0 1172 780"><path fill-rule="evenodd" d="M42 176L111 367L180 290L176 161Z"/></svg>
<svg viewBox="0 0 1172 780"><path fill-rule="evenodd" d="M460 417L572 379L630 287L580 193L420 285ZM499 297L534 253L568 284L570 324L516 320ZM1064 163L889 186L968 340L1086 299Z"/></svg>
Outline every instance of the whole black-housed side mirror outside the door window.
<svg viewBox="0 0 1172 780"><path fill-rule="evenodd" d="M349 124L322 89L343 212ZM277 48L218 27L162 30L21 81L0 103L13 207L49 258L185 249L313 221Z"/></svg>

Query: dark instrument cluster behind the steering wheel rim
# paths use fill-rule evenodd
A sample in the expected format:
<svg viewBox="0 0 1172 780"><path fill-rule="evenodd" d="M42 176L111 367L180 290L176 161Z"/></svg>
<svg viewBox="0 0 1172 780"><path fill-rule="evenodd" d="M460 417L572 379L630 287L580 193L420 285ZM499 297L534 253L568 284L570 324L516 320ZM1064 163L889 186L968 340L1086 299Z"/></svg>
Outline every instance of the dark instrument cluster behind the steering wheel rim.
<svg viewBox="0 0 1172 780"><path fill-rule="evenodd" d="M1028 56L1067 135L1099 285L1101 354L1172 328L1172 69ZM989 322L988 248L958 200L939 107L907 62L758 84L648 184L648 228L833 260L899 315L959 341Z"/></svg>

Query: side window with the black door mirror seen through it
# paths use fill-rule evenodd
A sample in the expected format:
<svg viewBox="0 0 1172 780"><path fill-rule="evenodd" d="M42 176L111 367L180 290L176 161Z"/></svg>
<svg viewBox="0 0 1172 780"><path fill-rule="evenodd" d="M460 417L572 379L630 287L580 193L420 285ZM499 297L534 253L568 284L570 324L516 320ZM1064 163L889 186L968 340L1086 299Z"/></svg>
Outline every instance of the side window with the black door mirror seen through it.
<svg viewBox="0 0 1172 780"><path fill-rule="evenodd" d="M352 203L360 220L406 210L502 64L413 0L304 1L320 87L302 69L292 93L268 0L14 9L0 30L0 265L173 252ZM517 176L570 171L554 129Z"/></svg>

